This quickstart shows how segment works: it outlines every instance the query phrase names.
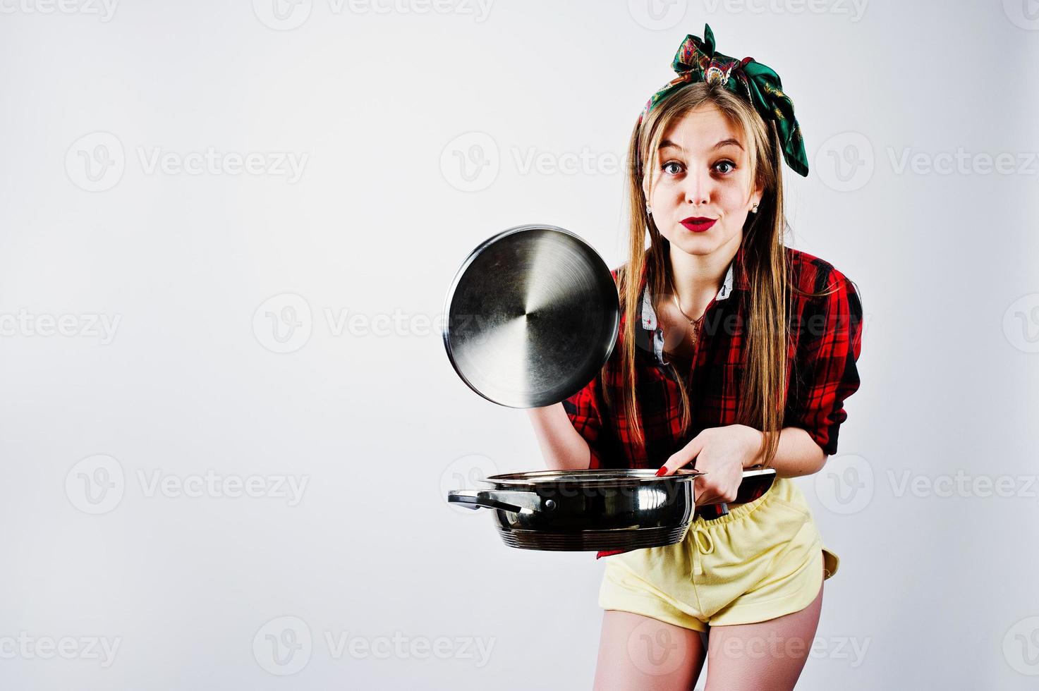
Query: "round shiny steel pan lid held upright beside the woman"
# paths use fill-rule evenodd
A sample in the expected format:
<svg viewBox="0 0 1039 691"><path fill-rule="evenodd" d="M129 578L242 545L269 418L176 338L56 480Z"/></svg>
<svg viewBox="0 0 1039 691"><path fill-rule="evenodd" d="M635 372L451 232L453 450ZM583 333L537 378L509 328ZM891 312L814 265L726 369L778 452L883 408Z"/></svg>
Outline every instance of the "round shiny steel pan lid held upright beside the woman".
<svg viewBox="0 0 1039 691"><path fill-rule="evenodd" d="M458 376L489 401L542 407L594 378L613 351L620 304L610 268L580 237L517 225L458 269L444 346Z"/></svg>

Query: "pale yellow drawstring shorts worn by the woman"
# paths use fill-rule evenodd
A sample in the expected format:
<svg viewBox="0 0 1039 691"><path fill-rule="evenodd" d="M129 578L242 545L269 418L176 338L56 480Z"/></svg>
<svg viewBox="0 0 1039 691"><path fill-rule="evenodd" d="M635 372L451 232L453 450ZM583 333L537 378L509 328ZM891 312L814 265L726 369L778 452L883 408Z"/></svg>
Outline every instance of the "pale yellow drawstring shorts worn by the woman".
<svg viewBox="0 0 1039 691"><path fill-rule="evenodd" d="M801 489L777 477L727 515L697 515L683 541L603 557L603 609L694 631L797 612L819 594L840 559L822 537Z"/></svg>

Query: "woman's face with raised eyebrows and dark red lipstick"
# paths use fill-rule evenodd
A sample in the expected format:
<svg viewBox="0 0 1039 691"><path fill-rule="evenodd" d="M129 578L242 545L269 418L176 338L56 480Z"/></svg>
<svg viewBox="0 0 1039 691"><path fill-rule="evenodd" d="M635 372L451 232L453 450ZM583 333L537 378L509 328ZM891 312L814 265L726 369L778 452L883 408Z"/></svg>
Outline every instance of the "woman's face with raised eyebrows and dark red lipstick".
<svg viewBox="0 0 1039 691"><path fill-rule="evenodd" d="M673 248L710 255L738 247L762 189L751 189L748 142L717 106L704 104L664 131L646 198ZM712 219L713 224L690 219ZM685 221L685 222L684 222Z"/></svg>

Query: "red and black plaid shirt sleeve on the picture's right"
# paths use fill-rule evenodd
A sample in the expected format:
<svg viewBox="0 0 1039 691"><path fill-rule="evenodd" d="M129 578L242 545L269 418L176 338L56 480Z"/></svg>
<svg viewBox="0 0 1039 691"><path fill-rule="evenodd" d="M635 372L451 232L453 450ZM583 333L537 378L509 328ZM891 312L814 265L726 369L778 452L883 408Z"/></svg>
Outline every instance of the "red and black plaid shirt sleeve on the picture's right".
<svg viewBox="0 0 1039 691"><path fill-rule="evenodd" d="M783 416L784 427L803 428L827 455L836 453L837 430L848 419L844 401L858 390L862 338L858 293L836 269L830 277L834 292L810 298L801 315Z"/></svg>

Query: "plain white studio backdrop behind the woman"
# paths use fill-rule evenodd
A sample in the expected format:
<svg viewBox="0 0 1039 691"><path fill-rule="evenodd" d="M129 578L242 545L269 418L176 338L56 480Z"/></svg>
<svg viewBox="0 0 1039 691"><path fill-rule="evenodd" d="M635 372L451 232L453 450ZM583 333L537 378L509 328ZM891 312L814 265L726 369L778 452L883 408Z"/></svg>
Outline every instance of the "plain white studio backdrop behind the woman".
<svg viewBox="0 0 1039 691"><path fill-rule="evenodd" d="M799 688L1033 688L1034 7L272 2L0 1L0 686L589 688L602 563L445 502L543 463L435 320L511 225L623 261L630 129L708 22L781 75L811 164L789 242L867 318L840 451L799 480L842 559ZM207 472L261 496L178 489Z"/></svg>

